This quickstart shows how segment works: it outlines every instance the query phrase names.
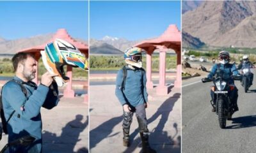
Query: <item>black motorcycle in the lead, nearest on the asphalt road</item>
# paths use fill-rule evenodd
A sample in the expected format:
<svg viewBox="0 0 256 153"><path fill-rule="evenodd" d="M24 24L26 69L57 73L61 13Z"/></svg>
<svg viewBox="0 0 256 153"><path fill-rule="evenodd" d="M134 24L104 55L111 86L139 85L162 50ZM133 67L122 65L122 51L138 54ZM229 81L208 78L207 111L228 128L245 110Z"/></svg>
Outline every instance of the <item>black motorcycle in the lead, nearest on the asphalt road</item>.
<svg viewBox="0 0 256 153"><path fill-rule="evenodd" d="M227 119L231 119L232 114L234 113L234 103L231 102L230 97L228 96L229 92L234 90L234 86L228 85L228 81L222 77L222 75L218 75L216 78L202 78L202 82L213 82L214 88L214 103L211 103L213 107L216 107L216 113L218 115L218 120L220 123L220 128L223 129L226 127ZM234 77L234 80L240 80L241 77Z"/></svg>

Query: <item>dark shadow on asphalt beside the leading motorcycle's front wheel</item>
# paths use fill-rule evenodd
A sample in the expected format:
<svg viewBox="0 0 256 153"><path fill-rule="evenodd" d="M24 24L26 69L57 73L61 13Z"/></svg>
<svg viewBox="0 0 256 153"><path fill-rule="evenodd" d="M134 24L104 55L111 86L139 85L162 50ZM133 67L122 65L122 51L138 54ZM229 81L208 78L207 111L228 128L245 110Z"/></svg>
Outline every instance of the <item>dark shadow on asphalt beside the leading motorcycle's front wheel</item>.
<svg viewBox="0 0 256 153"><path fill-rule="evenodd" d="M236 117L232 119L232 126L227 126L227 129L250 128L256 126L256 115Z"/></svg>

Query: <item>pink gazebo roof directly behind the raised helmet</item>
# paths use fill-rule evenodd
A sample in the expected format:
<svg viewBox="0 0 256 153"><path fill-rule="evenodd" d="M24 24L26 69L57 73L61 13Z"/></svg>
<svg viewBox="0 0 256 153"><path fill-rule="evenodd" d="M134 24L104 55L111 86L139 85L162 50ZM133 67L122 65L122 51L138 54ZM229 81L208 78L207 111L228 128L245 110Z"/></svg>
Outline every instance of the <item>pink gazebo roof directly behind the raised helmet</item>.
<svg viewBox="0 0 256 153"><path fill-rule="evenodd" d="M19 50L19 52L30 52L33 54L35 54L36 52L40 53L40 50L44 50L47 43L54 41L56 38L60 38L61 40L65 40L65 41L68 41L69 43L72 43L72 45L77 47L83 54L86 55L86 57L88 57L88 45L71 38L71 36L67 33L66 29L58 29L57 33L54 34L54 36L52 36L51 40L43 43L42 45Z"/></svg>

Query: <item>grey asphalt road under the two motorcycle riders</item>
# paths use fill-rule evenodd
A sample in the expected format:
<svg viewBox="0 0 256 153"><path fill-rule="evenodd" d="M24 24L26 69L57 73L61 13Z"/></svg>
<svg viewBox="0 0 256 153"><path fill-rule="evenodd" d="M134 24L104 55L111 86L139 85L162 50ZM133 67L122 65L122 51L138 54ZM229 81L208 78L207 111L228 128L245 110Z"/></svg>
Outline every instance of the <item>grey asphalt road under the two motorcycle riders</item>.
<svg viewBox="0 0 256 153"><path fill-rule="evenodd" d="M226 129L221 129L218 116L211 112L212 82L203 84L201 78L182 80L182 153L256 152L255 79L248 93L235 82L239 112L227 121Z"/></svg>

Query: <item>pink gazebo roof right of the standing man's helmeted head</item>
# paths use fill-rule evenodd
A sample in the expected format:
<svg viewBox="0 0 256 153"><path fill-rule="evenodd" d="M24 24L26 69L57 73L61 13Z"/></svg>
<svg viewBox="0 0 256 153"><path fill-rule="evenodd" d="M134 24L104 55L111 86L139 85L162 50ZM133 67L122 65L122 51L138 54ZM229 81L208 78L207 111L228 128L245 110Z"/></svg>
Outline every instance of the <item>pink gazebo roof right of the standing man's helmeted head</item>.
<svg viewBox="0 0 256 153"><path fill-rule="evenodd" d="M164 31L164 33L158 38L141 41L134 46L148 50L148 48L157 49L157 46L161 45L164 48L172 48L177 51L177 49L180 50L180 41L180 31L178 30L176 25L172 24L169 25L168 29L166 29L166 31Z"/></svg>

